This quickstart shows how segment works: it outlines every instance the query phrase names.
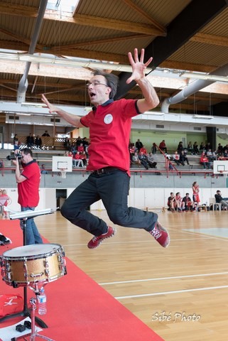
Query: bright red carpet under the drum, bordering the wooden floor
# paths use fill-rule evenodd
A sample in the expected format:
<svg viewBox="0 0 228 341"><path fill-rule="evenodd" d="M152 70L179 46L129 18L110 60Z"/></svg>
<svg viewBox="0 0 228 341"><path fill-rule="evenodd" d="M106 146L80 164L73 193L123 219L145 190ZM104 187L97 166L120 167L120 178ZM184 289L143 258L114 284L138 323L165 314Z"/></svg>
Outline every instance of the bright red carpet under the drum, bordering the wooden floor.
<svg viewBox="0 0 228 341"><path fill-rule="evenodd" d="M23 244L18 220L0 220L0 232L13 242L7 247L1 246L1 254ZM66 260L67 275L45 286L48 313L36 315L48 328L39 332L40 335L55 341L163 341L70 259ZM13 288L0 281L0 293L23 295L23 288ZM28 288L28 299L32 296L33 291ZM2 322L0 327L22 319L11 318Z"/></svg>

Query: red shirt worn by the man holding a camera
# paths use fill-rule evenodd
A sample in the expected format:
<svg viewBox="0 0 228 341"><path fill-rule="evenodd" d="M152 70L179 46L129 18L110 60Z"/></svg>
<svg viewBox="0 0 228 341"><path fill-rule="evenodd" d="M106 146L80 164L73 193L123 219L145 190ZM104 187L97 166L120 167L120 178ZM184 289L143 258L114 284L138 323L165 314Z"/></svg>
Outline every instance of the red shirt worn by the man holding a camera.
<svg viewBox="0 0 228 341"><path fill-rule="evenodd" d="M24 164L21 175L26 180L18 183L18 204L22 207L36 207L40 200L40 168L36 161Z"/></svg>

